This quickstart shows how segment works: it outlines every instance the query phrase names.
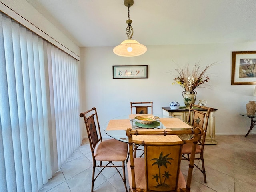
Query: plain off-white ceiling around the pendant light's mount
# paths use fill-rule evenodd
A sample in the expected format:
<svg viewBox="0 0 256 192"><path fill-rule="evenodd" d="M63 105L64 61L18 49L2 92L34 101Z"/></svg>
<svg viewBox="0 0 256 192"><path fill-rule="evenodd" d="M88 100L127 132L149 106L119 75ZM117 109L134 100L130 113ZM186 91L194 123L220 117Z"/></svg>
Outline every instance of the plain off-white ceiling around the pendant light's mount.
<svg viewBox="0 0 256 192"><path fill-rule="evenodd" d="M80 47L116 46L126 36L124 0L27 0ZM256 41L255 0L134 0L134 35L144 45Z"/></svg>

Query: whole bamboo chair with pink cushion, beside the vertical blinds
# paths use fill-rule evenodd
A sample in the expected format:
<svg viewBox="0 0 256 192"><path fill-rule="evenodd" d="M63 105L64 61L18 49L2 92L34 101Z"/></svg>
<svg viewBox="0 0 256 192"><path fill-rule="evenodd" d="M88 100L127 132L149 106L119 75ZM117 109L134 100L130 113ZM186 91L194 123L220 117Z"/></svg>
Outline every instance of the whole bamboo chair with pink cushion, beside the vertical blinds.
<svg viewBox="0 0 256 192"><path fill-rule="evenodd" d="M121 176L124 182L125 190L127 192L124 162L127 157L128 144L115 139L102 140L102 136L100 133L100 125L98 121L98 114L95 107L84 113L80 113L80 117L84 118L84 123L86 126L92 152L93 172L91 191L93 192L94 181L100 175L100 173L106 167L112 167L115 168L118 174ZM107 164L103 165L103 161L107 162ZM113 162L122 162L122 165L115 165ZM95 176L96 167L102 168L100 172L97 174L97 176ZM118 170L119 167L122 167L123 169L123 176Z"/></svg>

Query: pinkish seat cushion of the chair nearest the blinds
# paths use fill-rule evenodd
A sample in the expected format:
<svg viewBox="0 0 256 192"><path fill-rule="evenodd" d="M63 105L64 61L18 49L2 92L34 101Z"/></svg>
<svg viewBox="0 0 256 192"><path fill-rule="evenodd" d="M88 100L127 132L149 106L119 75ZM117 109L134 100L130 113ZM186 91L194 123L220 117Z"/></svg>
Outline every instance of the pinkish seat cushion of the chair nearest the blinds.
<svg viewBox="0 0 256 192"><path fill-rule="evenodd" d="M108 139L100 142L94 151L95 160L98 161L124 161L128 152L128 144Z"/></svg>

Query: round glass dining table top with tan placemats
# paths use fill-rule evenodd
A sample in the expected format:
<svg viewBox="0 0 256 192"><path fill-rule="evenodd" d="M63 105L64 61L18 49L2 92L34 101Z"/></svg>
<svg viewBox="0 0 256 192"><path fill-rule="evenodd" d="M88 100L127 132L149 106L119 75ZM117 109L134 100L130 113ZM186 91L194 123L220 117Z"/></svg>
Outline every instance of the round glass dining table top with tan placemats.
<svg viewBox="0 0 256 192"><path fill-rule="evenodd" d="M159 114L153 114L156 117L156 121L152 124L140 124L134 120L134 117L141 116L142 114L130 114L124 116L118 116L106 122L104 125L104 131L108 136L128 143L128 137L126 136L126 129L171 129L171 130L190 130L192 129L192 125L188 122L180 120L179 118L174 118L170 116L164 116ZM145 115L145 114L143 114ZM151 115L152 114L146 114ZM181 140L188 140L192 138L193 135L177 135Z"/></svg>

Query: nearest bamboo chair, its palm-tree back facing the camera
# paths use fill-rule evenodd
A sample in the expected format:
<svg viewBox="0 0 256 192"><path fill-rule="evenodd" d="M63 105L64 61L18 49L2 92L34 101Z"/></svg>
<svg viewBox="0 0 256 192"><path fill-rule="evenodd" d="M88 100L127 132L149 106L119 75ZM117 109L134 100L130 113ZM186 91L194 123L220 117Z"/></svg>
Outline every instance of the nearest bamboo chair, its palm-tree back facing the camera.
<svg viewBox="0 0 256 192"><path fill-rule="evenodd" d="M194 134L191 140L181 140L177 135ZM199 135L204 129L173 131L126 130L128 136L130 160L127 162L130 191L132 192L189 192L194 168L194 156ZM180 171L182 146L192 144L192 153L185 180ZM134 144L144 145L142 158L134 158Z"/></svg>

